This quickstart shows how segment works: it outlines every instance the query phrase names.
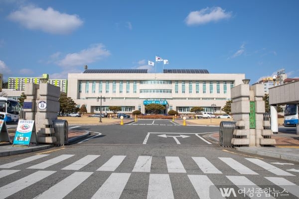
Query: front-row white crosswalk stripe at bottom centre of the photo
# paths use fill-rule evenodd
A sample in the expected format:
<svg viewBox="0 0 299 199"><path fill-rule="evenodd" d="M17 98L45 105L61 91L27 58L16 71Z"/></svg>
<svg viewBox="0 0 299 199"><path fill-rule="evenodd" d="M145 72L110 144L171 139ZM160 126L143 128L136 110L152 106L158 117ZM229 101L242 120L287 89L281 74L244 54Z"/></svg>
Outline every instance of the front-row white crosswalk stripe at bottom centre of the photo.
<svg viewBox="0 0 299 199"><path fill-rule="evenodd" d="M168 174L149 174L148 199L174 199Z"/></svg>

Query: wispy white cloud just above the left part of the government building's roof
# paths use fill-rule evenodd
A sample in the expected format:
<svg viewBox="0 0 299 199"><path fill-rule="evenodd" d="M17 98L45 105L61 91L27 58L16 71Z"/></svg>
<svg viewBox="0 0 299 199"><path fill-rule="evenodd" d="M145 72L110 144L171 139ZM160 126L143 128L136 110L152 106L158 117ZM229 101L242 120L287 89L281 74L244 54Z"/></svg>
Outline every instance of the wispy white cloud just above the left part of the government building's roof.
<svg viewBox="0 0 299 199"><path fill-rule="evenodd" d="M110 55L103 44L94 44L78 53L67 54L64 59L58 61L58 65L63 67L84 66Z"/></svg>

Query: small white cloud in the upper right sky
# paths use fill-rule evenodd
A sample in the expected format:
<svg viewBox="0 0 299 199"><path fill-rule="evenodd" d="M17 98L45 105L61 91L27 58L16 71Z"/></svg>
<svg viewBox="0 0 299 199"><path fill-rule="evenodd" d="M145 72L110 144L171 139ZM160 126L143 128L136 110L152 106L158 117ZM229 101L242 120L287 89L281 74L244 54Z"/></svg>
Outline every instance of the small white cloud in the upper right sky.
<svg viewBox="0 0 299 199"><path fill-rule="evenodd" d="M232 16L231 12L226 12L221 7L204 8L199 11L192 11L185 19L187 25L201 25L211 21L228 19Z"/></svg>

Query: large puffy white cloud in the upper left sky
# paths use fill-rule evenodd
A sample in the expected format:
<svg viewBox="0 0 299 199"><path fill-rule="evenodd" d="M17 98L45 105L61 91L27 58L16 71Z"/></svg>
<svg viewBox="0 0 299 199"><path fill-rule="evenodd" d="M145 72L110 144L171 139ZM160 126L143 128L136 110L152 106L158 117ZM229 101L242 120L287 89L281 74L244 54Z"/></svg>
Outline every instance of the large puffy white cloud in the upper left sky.
<svg viewBox="0 0 299 199"><path fill-rule="evenodd" d="M75 14L60 13L52 7L46 10L32 5L11 12L8 18L28 29L42 30L52 34L68 34L83 24Z"/></svg>

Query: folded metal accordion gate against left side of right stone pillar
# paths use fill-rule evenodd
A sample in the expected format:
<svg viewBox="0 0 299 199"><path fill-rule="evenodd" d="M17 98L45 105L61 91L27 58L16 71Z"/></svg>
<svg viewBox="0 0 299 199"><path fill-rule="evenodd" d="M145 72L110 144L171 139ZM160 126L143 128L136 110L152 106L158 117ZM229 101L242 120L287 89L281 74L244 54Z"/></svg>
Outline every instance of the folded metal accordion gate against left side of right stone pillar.
<svg viewBox="0 0 299 199"><path fill-rule="evenodd" d="M234 130L236 129L236 121L221 121L219 128L219 145L222 147L233 147L232 138L234 138Z"/></svg>

